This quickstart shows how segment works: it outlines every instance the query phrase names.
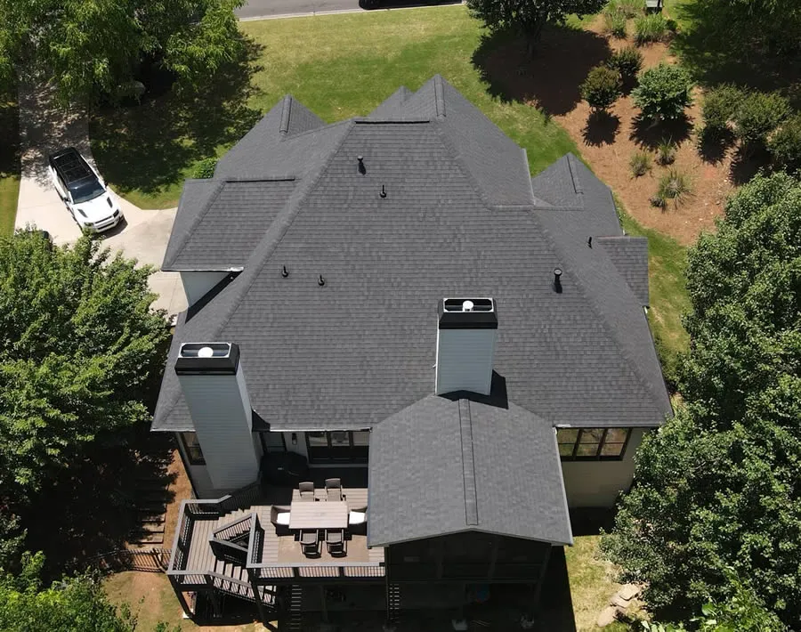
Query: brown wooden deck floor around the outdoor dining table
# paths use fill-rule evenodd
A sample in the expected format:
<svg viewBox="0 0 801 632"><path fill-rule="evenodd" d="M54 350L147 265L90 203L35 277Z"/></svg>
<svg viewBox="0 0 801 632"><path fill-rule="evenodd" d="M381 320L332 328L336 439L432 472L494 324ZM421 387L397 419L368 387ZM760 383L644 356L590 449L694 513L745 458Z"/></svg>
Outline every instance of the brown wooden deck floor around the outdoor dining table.
<svg viewBox="0 0 801 632"><path fill-rule="evenodd" d="M287 494L288 490L280 490L279 498L295 500L300 495L297 490L293 490L291 498ZM345 500L350 510L364 510L367 506L367 488L345 488ZM316 489L315 497L319 502L326 501L324 489ZM274 503L278 504L278 503ZM295 534L279 535L273 524L270 522L270 505L255 505L245 509L237 509L225 515L220 515L214 519L197 519L193 524L190 539L190 546L187 555L187 563L184 571L196 573L215 572L233 577L234 579L247 580L247 571L239 566L224 562L215 557L212 547L209 545L209 538L214 531L221 529L226 524L232 523L239 518L255 513L258 515L259 524L263 529L263 544L259 559L260 565L295 565L295 564L320 564L320 565L342 565L346 563L383 563L384 548L368 548L367 537L360 533L347 533L345 541L345 555L328 555L325 542L320 544L320 555L318 557L306 557L297 541Z"/></svg>

